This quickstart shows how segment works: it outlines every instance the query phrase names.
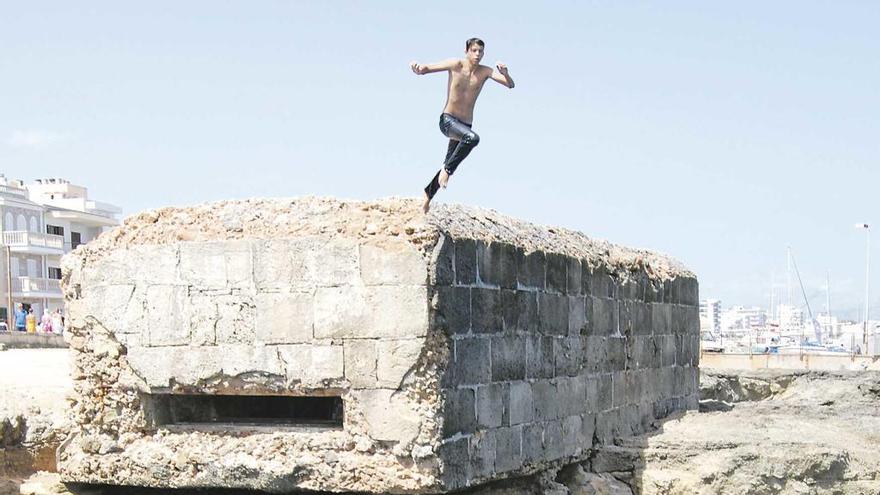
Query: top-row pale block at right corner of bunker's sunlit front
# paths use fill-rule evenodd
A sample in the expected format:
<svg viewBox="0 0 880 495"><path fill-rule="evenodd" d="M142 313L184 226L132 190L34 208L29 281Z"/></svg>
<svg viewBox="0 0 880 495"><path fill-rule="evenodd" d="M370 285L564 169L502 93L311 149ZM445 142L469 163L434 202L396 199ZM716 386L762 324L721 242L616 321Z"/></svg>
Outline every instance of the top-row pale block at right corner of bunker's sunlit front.
<svg viewBox="0 0 880 495"><path fill-rule="evenodd" d="M428 265L412 244L360 245L361 279L366 285L425 285Z"/></svg>

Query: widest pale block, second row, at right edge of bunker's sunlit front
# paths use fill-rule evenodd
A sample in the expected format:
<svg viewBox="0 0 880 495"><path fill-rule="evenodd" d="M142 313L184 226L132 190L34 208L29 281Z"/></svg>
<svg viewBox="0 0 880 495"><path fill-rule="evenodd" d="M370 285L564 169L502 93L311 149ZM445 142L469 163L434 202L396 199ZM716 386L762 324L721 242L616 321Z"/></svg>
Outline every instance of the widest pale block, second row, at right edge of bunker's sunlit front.
<svg viewBox="0 0 880 495"><path fill-rule="evenodd" d="M315 292L315 338L423 337L427 327L425 287L345 286Z"/></svg>

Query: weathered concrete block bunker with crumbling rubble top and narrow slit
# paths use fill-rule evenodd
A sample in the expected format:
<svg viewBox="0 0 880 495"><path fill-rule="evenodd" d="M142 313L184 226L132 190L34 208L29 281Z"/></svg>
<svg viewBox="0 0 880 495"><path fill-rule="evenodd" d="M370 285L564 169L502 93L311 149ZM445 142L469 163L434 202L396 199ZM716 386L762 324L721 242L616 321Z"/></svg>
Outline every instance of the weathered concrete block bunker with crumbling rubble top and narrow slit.
<svg viewBox="0 0 880 495"><path fill-rule="evenodd" d="M495 212L251 200L64 260L68 482L442 493L694 409L695 277Z"/></svg>

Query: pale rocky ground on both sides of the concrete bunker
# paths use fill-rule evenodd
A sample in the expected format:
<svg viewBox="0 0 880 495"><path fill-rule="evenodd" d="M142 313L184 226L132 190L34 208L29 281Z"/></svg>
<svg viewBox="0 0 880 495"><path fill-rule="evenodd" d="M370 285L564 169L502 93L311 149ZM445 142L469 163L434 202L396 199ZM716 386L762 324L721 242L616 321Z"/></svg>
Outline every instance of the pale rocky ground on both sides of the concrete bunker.
<svg viewBox="0 0 880 495"><path fill-rule="evenodd" d="M0 453L7 470L0 494L66 492L56 475L22 484L24 472L9 470L15 455L54 448L66 431L66 377L63 350L0 352ZM668 419L589 462L470 495L880 493L880 372L704 370L701 395L700 412Z"/></svg>

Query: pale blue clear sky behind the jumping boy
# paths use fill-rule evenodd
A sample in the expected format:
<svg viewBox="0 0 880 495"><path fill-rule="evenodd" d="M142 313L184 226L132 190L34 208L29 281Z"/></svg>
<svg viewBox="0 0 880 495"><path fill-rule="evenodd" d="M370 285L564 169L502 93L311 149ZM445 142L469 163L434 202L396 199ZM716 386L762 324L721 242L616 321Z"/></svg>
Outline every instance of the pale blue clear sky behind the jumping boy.
<svg viewBox="0 0 880 495"><path fill-rule="evenodd" d="M485 88L480 146L439 201L667 252L725 306L766 306L791 245L814 310L830 270L855 317L853 224L880 221L878 25L868 1L5 2L0 172L127 214L415 196L445 152L446 81L408 62L480 36L517 87Z"/></svg>

